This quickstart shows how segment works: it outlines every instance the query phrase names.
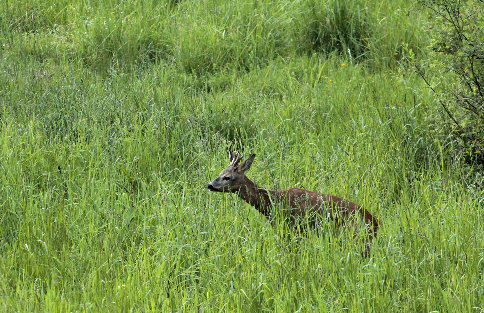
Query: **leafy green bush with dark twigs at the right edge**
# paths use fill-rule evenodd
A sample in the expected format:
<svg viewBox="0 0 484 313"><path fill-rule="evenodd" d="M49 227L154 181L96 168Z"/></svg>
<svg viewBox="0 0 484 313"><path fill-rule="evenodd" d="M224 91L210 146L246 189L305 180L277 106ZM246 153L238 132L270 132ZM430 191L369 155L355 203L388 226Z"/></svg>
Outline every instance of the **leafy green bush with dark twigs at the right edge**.
<svg viewBox="0 0 484 313"><path fill-rule="evenodd" d="M435 34L430 58L413 63L435 94L428 111L443 139L471 164L484 164L484 16L483 1L421 1L430 10L428 30ZM409 50L411 55L411 50ZM411 58L412 56L410 56Z"/></svg>

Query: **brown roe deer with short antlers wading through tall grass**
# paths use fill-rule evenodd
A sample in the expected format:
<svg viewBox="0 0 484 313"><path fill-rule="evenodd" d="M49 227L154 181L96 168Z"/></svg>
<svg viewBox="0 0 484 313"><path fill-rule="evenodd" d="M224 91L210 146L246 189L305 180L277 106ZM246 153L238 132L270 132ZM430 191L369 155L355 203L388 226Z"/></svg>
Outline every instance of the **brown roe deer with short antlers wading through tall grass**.
<svg viewBox="0 0 484 313"><path fill-rule="evenodd" d="M228 152L230 153L230 164L208 184L210 191L238 194L248 204L264 214L268 221L271 217L271 206L274 203L290 209L291 217L306 217L307 223L313 227L318 224L318 219L329 216L337 225L347 225L348 230L353 230L353 238L356 238L358 228L354 217L357 213L361 214L369 230L362 255L370 254L371 240L377 236L378 232L378 220L362 206L334 195L319 194L300 188L266 190L257 186L244 174L252 165L256 155L252 154L240 163L242 157L239 153L234 154L230 149Z"/></svg>

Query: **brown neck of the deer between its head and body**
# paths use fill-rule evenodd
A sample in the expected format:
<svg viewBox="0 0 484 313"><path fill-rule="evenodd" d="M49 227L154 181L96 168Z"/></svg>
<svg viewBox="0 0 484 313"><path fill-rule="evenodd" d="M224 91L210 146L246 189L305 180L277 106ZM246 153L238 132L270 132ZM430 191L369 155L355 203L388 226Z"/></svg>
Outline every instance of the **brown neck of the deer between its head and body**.
<svg viewBox="0 0 484 313"><path fill-rule="evenodd" d="M247 176L244 176L244 183L239 190L239 197L255 207L266 218L269 218L271 214L271 196L276 196L276 192L259 187Z"/></svg>

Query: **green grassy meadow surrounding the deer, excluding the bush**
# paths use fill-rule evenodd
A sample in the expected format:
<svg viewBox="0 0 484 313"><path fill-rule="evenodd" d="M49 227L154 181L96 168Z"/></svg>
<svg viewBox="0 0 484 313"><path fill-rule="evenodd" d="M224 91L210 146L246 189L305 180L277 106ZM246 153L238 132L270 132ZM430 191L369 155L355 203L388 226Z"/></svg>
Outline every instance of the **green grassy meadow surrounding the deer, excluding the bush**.
<svg viewBox="0 0 484 313"><path fill-rule="evenodd" d="M483 177L428 126L418 3L0 3L3 312L483 312ZM267 223L207 183L380 221Z"/></svg>

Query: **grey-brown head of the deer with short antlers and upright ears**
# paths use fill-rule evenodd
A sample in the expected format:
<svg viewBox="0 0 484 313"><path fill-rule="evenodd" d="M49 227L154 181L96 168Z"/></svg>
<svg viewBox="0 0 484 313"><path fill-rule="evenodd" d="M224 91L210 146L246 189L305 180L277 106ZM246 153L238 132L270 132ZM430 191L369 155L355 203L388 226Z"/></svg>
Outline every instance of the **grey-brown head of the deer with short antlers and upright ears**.
<svg viewBox="0 0 484 313"><path fill-rule="evenodd" d="M234 154L230 151L230 148L228 149L228 153L230 154L230 164L208 185L210 191L218 191L221 193L238 192L244 185L245 171L250 168L250 165L252 165L256 157L256 154L253 154L239 164L242 156L239 153Z"/></svg>

